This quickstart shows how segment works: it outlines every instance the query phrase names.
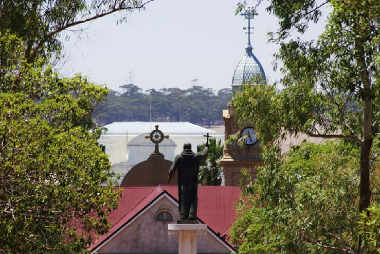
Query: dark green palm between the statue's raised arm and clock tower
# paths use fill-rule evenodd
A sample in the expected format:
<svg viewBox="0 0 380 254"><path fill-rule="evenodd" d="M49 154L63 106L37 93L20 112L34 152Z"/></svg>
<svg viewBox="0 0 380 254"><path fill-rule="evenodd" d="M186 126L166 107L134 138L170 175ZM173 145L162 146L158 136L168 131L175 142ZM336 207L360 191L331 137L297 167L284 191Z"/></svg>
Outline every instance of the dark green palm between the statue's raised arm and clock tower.
<svg viewBox="0 0 380 254"><path fill-rule="evenodd" d="M218 142L215 138L209 140L209 152L207 154L205 163L199 168L198 182L200 185L220 185L222 173L222 166L220 166L220 159L223 157L223 144L219 139ZM198 151L203 151L206 144L198 145Z"/></svg>

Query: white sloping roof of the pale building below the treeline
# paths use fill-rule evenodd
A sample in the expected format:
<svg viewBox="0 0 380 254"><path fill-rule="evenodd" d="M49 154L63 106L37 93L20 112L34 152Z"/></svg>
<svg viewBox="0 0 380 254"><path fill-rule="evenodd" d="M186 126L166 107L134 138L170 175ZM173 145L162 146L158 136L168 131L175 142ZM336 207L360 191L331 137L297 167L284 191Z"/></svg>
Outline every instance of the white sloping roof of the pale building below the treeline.
<svg viewBox="0 0 380 254"><path fill-rule="evenodd" d="M189 122L113 122L104 127L108 129L106 135L115 134L142 134L150 133L158 125L158 129L165 135L168 134L206 134L216 133L211 129L206 129L201 126Z"/></svg>

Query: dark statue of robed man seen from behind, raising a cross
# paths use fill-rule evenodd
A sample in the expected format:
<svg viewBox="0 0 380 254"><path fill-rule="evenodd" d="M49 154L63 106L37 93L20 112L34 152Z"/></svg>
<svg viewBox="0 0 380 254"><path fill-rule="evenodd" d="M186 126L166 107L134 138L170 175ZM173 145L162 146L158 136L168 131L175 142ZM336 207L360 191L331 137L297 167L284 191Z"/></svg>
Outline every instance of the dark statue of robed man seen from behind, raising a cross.
<svg viewBox="0 0 380 254"><path fill-rule="evenodd" d="M196 220L198 204L198 171L199 163L206 158L208 140L202 152L193 152L191 144L185 143L182 153L176 155L169 170L168 181L178 169L179 219Z"/></svg>

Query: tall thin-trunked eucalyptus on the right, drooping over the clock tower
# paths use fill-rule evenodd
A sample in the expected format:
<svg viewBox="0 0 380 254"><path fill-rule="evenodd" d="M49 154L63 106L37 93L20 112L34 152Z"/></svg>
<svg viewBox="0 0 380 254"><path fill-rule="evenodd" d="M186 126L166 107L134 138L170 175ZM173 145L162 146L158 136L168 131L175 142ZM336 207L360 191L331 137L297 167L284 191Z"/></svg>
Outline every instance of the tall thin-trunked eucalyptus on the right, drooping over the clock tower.
<svg viewBox="0 0 380 254"><path fill-rule="evenodd" d="M323 6L331 13L320 37L305 41L294 36L319 21ZM283 62L284 89L257 86L237 94L238 121L256 126L264 150L275 150L284 133L355 144L360 157L359 211L369 215L370 173L380 135L380 2L270 0L266 10L279 19L271 40L280 44L276 57ZM358 253L363 251L359 240Z"/></svg>

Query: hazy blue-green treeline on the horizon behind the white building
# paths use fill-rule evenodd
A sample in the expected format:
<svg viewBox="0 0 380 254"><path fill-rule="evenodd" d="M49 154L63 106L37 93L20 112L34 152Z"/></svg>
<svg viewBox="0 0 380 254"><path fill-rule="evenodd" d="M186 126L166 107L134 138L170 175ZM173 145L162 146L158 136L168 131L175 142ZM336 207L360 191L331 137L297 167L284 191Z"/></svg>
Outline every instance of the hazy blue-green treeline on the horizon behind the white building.
<svg viewBox="0 0 380 254"><path fill-rule="evenodd" d="M120 86L122 93L111 90L107 101L98 105L95 120L99 126L122 121L188 121L202 126L223 124L222 110L231 101L231 89L220 89L216 94L211 88L192 86L149 89L142 93L136 85ZM151 105L151 107L150 107Z"/></svg>

